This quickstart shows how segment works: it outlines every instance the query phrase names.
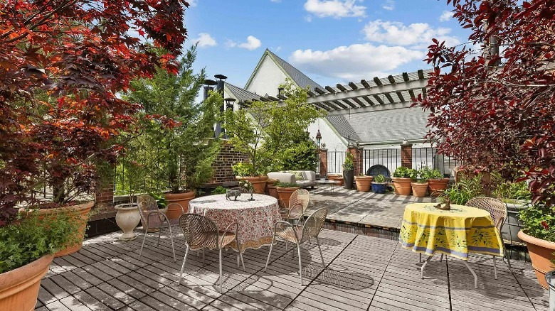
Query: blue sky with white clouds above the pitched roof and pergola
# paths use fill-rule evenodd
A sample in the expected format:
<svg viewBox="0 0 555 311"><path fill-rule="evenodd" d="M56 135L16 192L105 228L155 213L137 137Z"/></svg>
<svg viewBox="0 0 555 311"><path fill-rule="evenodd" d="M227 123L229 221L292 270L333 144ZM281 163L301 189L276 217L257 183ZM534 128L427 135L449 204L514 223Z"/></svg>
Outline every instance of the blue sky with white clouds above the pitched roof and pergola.
<svg viewBox="0 0 555 311"><path fill-rule="evenodd" d="M322 85L427 69L431 38L455 45L469 31L445 0L189 0L185 47L195 69L244 87L265 48Z"/></svg>

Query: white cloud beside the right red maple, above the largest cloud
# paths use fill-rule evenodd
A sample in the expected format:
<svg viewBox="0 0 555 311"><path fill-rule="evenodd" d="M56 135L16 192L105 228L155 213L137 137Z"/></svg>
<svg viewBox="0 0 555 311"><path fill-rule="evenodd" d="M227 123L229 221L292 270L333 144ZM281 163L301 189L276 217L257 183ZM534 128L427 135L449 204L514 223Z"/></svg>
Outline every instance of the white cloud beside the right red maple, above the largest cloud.
<svg viewBox="0 0 555 311"><path fill-rule="evenodd" d="M412 48L425 48L432 38L445 40L447 45L458 45L460 40L449 36L450 28L432 28L428 23L405 24L397 21L371 21L362 30L366 40L392 45L408 45Z"/></svg>

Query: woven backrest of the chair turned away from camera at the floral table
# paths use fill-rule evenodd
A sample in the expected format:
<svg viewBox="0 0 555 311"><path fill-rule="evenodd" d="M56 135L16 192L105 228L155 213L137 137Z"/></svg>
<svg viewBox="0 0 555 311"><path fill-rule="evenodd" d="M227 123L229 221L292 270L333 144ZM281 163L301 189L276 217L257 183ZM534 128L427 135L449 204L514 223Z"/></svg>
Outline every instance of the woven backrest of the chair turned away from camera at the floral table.
<svg viewBox="0 0 555 311"><path fill-rule="evenodd" d="M199 214L182 214L179 227L190 249L218 249L218 227L208 217Z"/></svg>

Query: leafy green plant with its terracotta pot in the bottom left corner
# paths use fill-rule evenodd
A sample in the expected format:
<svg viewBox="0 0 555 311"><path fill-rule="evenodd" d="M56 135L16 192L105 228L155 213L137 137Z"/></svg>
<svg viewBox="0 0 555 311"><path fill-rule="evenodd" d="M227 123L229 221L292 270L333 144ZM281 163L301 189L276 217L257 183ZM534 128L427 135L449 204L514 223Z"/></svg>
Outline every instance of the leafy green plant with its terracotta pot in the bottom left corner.
<svg viewBox="0 0 555 311"><path fill-rule="evenodd" d="M77 211L39 215L0 227L0 310L33 310L41 278L54 253L78 242L72 234L80 227Z"/></svg>

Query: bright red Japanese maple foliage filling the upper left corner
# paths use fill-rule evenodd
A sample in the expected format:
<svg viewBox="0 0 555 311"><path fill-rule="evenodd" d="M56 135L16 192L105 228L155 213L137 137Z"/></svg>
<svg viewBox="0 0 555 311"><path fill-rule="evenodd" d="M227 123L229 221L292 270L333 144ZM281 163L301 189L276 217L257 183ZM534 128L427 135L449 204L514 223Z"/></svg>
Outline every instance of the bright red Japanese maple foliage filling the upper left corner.
<svg viewBox="0 0 555 311"><path fill-rule="evenodd" d="M63 204L95 187L98 159L139 109L117 97L176 72L185 0L0 1L0 225L38 182ZM152 45L168 51L157 55Z"/></svg>

